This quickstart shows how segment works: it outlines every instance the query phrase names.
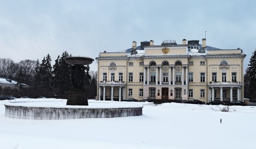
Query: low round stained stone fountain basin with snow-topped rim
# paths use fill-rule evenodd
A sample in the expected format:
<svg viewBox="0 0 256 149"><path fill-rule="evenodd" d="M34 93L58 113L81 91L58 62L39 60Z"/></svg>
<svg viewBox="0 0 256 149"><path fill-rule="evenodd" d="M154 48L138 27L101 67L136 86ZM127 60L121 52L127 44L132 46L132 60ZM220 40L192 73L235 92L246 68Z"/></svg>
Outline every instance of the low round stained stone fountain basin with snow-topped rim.
<svg viewBox="0 0 256 149"><path fill-rule="evenodd" d="M29 103L29 102L28 102ZM49 102L51 103L51 102ZM23 103L23 105L25 105ZM94 103L95 104L95 103ZM77 118L110 118L110 117L128 117L142 115L143 106L110 106L89 107L89 106L67 106L49 107L49 106L20 106L15 103L5 104L5 115L12 118L34 119L34 120L64 120Z"/></svg>

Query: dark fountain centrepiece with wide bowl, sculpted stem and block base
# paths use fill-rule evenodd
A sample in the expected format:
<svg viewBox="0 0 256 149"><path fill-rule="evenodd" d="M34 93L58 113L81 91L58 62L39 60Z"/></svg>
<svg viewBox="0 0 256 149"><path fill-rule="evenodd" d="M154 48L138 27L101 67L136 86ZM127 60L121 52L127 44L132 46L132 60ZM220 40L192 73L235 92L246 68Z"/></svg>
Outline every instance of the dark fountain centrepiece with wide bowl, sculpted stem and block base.
<svg viewBox="0 0 256 149"><path fill-rule="evenodd" d="M89 57L66 57L66 63L72 69L73 88L68 91L67 105L88 106L87 91L84 89L84 65L93 63L93 59Z"/></svg>

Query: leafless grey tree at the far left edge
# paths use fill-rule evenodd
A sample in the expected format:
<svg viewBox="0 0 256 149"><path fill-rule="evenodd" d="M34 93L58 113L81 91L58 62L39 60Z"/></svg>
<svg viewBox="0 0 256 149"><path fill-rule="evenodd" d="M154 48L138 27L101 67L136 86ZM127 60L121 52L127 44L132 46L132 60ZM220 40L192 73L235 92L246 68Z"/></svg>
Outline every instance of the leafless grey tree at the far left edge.
<svg viewBox="0 0 256 149"><path fill-rule="evenodd" d="M13 78L18 66L10 58L0 58L0 77Z"/></svg>

